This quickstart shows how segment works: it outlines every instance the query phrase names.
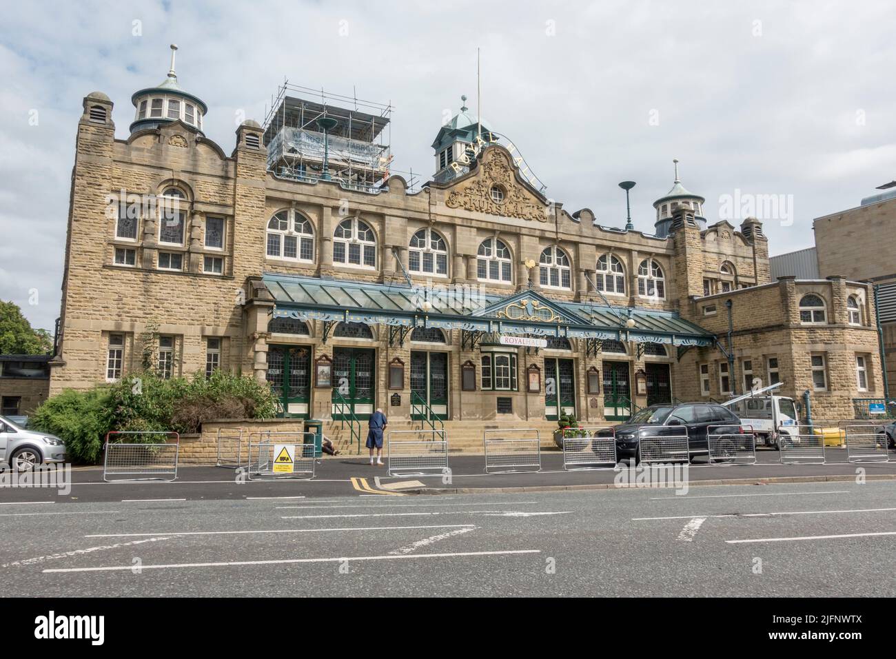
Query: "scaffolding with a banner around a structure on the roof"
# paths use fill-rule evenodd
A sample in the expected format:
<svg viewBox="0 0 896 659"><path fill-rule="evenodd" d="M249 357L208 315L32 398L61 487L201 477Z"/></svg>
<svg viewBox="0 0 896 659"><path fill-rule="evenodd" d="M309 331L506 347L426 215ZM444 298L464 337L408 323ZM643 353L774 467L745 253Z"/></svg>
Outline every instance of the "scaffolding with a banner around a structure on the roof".
<svg viewBox="0 0 896 659"><path fill-rule="evenodd" d="M284 81L264 118L268 170L280 178L309 183L323 178L324 134L317 120L331 117L336 125L327 132L330 178L349 189L378 193L392 174L399 173L392 169L389 146L392 109L392 103ZM410 187L416 185L413 173L405 178Z"/></svg>

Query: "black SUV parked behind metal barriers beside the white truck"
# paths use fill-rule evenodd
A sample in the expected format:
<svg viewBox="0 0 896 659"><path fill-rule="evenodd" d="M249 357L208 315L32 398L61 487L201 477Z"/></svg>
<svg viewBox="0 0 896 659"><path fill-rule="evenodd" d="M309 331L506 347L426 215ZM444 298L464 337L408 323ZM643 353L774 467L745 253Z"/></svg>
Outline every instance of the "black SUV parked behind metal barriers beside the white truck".
<svg viewBox="0 0 896 659"><path fill-rule="evenodd" d="M731 425L728 425L731 424ZM688 458L709 455L707 429L713 434L740 433L740 419L727 407L714 403L650 405L635 412L631 419L616 426L616 457L641 462L639 436L680 437L687 429ZM685 455L682 455L685 460Z"/></svg>

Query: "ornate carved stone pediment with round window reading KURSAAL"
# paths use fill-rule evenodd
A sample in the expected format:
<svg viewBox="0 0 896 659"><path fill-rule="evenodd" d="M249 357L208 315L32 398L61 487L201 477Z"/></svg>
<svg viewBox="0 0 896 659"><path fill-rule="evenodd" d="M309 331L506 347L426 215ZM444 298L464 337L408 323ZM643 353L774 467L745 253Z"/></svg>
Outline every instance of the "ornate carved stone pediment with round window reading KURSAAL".
<svg viewBox="0 0 896 659"><path fill-rule="evenodd" d="M449 208L485 212L521 220L547 222L547 206L517 180L510 154L491 148L483 154L476 176L459 183L445 199ZM497 186L504 198L496 201L492 188Z"/></svg>

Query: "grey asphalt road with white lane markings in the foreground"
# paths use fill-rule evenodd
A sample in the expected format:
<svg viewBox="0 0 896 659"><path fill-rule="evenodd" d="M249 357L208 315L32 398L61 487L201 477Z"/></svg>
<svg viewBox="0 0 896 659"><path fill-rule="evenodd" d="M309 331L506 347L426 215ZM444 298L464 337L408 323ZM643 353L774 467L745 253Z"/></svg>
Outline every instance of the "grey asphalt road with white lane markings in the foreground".
<svg viewBox="0 0 896 659"><path fill-rule="evenodd" d="M118 500L2 501L5 596L896 594L896 481L185 501L90 488Z"/></svg>

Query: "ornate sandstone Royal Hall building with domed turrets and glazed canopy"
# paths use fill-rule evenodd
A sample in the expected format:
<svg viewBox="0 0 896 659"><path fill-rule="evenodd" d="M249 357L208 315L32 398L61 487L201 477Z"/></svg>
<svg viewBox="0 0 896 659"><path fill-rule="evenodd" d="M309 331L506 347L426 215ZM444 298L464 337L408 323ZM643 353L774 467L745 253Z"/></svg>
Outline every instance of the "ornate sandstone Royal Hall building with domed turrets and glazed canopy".
<svg viewBox="0 0 896 659"><path fill-rule="evenodd" d="M391 171L388 105L291 90L226 152L171 68L124 136L112 100L83 100L52 393L148 352L324 420L613 421L757 379L825 416L882 395L868 284L773 282L762 223L710 224L677 167L649 226L607 227L549 201L466 104L417 189Z"/></svg>

